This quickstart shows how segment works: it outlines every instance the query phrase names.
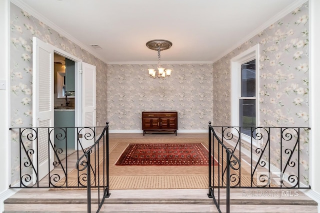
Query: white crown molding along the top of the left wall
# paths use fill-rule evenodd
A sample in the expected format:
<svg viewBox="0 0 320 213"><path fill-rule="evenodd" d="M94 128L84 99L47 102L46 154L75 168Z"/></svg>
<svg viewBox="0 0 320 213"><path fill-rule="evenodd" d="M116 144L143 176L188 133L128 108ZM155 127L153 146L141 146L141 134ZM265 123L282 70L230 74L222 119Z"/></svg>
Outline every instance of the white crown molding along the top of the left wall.
<svg viewBox="0 0 320 213"><path fill-rule="evenodd" d="M57 26L56 24L54 24L52 21L50 21L49 19L45 18L42 14L38 13L37 11L35 11L32 7L30 7L29 5L27 5L26 3L22 2L21 0L10 0L11 3L15 4L16 6L20 7L21 9L23 9L24 11L26 11L27 13L29 13L30 15L32 15L33 17L37 18L38 20L42 21L43 23L45 23L48 27L52 28L53 30L55 30L56 32L58 32L59 34L63 35L64 37L66 37L67 39L71 40L73 43L75 43L76 45L80 46L82 49L84 49L85 51L87 51L88 53L92 54L94 57L100 59L101 61L103 61L104 63L107 63L107 61L105 61L103 59L103 57L99 54L97 54L96 52L93 52L91 49L88 48L88 46L86 46L85 44L83 44L82 42L80 42L78 39L76 39L75 37L73 37L72 35L70 35L69 33L65 32L63 29L61 29L59 26Z"/></svg>

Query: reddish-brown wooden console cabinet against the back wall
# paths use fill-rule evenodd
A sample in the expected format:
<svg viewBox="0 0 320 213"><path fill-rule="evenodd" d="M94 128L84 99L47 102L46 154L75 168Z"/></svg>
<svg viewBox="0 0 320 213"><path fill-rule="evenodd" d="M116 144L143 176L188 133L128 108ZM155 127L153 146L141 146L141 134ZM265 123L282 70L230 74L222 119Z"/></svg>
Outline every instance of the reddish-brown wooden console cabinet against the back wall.
<svg viewBox="0 0 320 213"><path fill-rule="evenodd" d="M172 132L178 129L177 111L142 111L143 136L146 132Z"/></svg>

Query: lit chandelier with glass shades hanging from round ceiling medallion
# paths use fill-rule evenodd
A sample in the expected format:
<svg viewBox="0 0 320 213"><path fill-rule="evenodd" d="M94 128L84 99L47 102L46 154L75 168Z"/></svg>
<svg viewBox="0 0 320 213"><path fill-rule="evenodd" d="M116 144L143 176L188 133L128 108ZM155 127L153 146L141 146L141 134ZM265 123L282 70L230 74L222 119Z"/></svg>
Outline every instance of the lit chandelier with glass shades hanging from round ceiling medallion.
<svg viewBox="0 0 320 213"><path fill-rule="evenodd" d="M157 64L157 72L150 68L148 69L149 75L151 78L161 78L164 79L165 77L169 77L171 75L171 69L165 69L161 66L160 63L160 51L168 49L172 46L172 43L167 40L162 40L162 39L155 39L155 40L150 40L146 42L145 44L149 49L152 50L157 50L158 51L158 64Z"/></svg>

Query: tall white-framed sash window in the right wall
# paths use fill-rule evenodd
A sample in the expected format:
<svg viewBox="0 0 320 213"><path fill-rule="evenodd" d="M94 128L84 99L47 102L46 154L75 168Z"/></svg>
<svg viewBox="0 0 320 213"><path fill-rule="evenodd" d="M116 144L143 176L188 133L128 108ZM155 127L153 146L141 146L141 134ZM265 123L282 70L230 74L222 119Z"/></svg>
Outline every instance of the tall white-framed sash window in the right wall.
<svg viewBox="0 0 320 213"><path fill-rule="evenodd" d="M255 45L231 59L231 125L241 127L242 139L258 126L258 54Z"/></svg>

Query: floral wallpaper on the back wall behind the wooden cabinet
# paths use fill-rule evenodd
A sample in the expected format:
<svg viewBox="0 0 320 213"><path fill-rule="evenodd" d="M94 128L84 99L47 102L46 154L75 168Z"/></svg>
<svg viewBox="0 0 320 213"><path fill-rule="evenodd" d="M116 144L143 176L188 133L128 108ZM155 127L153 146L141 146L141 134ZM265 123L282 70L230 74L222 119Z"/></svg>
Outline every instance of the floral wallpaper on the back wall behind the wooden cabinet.
<svg viewBox="0 0 320 213"><path fill-rule="evenodd" d="M212 120L212 64L163 64L166 79L152 79L156 64L109 64L107 115L110 130L141 130L143 110L175 110L178 130L206 130Z"/></svg>

